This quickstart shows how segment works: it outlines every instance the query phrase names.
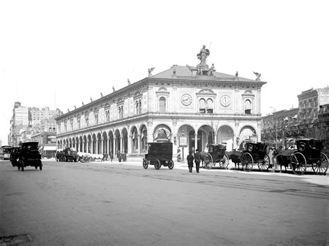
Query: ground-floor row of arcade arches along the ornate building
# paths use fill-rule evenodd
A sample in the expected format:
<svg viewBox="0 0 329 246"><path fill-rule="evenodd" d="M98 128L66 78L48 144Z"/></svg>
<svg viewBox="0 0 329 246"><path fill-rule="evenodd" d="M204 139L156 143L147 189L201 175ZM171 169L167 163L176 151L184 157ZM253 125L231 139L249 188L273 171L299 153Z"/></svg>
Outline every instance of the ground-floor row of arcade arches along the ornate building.
<svg viewBox="0 0 329 246"><path fill-rule="evenodd" d="M129 130L108 130L103 132L90 132L75 137L58 139L59 149L73 147L80 152L103 154L118 150L128 155L140 155L146 152L148 142L173 142L174 146L186 147L188 151L193 148L203 150L208 143L226 143L227 149L242 148L251 137L257 136L251 125L245 125L234 130L230 125L221 125L217 130L211 125L202 125L195 128L193 125L181 125L176 133L166 124L156 125L151 134L146 125L133 126ZM174 151L175 152L175 151Z"/></svg>

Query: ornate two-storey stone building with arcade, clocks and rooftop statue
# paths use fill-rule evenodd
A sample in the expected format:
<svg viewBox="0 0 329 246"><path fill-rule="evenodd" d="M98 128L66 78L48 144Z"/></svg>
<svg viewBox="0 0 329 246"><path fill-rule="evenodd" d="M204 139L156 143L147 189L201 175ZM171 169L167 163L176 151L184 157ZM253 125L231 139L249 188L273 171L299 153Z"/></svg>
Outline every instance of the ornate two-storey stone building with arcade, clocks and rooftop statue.
<svg viewBox="0 0 329 246"><path fill-rule="evenodd" d="M196 67L174 65L154 76L149 69L149 77L58 116L58 148L133 157L148 142L171 141L174 155L183 147L186 156L207 143L225 142L230 150L246 139L260 141L266 82L218 73L205 63L209 51L200 53Z"/></svg>

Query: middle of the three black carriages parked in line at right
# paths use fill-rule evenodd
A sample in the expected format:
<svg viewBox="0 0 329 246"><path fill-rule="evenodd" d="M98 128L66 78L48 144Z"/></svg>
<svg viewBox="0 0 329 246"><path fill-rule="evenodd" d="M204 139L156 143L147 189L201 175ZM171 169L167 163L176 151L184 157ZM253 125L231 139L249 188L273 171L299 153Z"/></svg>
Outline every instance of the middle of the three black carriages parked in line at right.
<svg viewBox="0 0 329 246"><path fill-rule="evenodd" d="M267 155L266 143L246 143L245 150L242 151L240 161L242 169L250 172L253 164L257 163L261 171L268 170L271 164Z"/></svg>

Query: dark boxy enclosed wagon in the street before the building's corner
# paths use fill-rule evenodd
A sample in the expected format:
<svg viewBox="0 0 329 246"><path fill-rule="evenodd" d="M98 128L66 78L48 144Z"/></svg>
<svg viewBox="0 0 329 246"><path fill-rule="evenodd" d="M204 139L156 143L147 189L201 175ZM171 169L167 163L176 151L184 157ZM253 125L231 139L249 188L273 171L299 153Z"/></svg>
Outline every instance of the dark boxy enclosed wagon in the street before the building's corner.
<svg viewBox="0 0 329 246"><path fill-rule="evenodd" d="M172 143L147 143L147 150L148 153L143 159L145 169L149 165L154 165L156 170L159 170L161 166L168 166L169 169L174 168Z"/></svg>

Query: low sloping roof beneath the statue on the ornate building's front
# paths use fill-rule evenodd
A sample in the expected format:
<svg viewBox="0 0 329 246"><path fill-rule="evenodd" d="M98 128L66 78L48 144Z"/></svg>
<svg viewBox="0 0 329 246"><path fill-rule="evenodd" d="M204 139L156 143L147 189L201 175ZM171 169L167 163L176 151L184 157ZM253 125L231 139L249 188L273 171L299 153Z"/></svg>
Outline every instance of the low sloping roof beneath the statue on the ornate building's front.
<svg viewBox="0 0 329 246"><path fill-rule="evenodd" d="M192 69L196 69L196 67L189 66ZM176 70L176 74L174 75L174 69ZM207 78L209 80L235 80L235 76L226 74L226 73L219 73L219 72L214 72L213 76L192 76L192 71L187 67L187 66L173 66L170 69L167 69L165 71L162 71L160 73L157 73L153 76L152 78L173 78L173 75L176 78ZM251 80L248 78L242 78L238 77L239 81L245 81L245 82L256 82L256 80Z"/></svg>

